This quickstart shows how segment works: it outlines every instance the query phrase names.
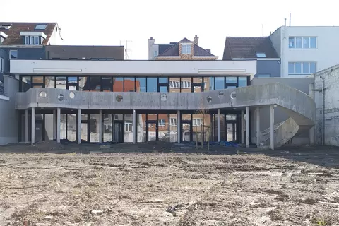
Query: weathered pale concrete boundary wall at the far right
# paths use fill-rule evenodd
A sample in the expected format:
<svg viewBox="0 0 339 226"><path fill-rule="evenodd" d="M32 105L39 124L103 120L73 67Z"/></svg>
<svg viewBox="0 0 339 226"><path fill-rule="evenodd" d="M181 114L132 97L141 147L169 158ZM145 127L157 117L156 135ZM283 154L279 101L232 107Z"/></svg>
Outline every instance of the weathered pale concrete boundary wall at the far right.
<svg viewBox="0 0 339 226"><path fill-rule="evenodd" d="M315 74L315 88L321 89L325 78L325 144L339 145L339 64ZM322 142L323 95L314 92L316 101L316 143Z"/></svg>

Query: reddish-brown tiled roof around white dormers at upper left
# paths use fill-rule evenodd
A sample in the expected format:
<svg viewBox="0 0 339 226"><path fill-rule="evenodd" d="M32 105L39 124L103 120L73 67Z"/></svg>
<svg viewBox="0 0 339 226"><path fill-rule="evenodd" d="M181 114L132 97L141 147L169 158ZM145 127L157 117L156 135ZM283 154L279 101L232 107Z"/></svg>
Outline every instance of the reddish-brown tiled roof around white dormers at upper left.
<svg viewBox="0 0 339 226"><path fill-rule="evenodd" d="M37 31L44 32L47 36L42 45L47 45L49 38L52 36L55 26L57 23L20 23L20 22L0 22L0 25L11 25L11 28L5 29L0 28L0 32L4 32L8 37L2 42L1 45L16 45L23 44L23 37L20 36L22 31ZM47 24L45 29L35 29L38 24Z"/></svg>

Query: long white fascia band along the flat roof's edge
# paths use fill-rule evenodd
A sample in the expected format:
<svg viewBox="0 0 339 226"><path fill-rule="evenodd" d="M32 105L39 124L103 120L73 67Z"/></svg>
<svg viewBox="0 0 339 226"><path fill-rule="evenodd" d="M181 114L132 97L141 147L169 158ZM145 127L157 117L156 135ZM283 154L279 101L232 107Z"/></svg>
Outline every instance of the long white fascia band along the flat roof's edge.
<svg viewBox="0 0 339 226"><path fill-rule="evenodd" d="M205 70L205 71L202 71ZM213 71L214 70L214 71ZM218 71L215 71L218 70ZM11 60L16 74L86 74L86 75L251 75L256 61L59 61Z"/></svg>

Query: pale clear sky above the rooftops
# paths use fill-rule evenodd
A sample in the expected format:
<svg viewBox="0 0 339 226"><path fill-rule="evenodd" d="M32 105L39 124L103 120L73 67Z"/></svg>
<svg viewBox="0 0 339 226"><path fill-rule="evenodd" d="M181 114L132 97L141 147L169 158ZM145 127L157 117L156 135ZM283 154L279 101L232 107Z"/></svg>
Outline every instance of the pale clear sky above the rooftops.
<svg viewBox="0 0 339 226"><path fill-rule="evenodd" d="M57 22L63 44L126 45L129 59L148 59L155 43L184 37L222 59L227 36L268 36L284 25L339 25L335 0L4 0L0 21ZM20 7L18 7L20 6Z"/></svg>

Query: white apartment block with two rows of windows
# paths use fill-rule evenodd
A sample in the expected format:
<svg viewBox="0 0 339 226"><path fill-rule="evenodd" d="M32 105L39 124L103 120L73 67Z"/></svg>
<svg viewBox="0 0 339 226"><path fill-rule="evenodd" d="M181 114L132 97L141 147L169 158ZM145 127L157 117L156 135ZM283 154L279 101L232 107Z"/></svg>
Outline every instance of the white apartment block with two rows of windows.
<svg viewBox="0 0 339 226"><path fill-rule="evenodd" d="M307 77L339 63L339 27L282 26L270 35L281 58L280 75Z"/></svg>

